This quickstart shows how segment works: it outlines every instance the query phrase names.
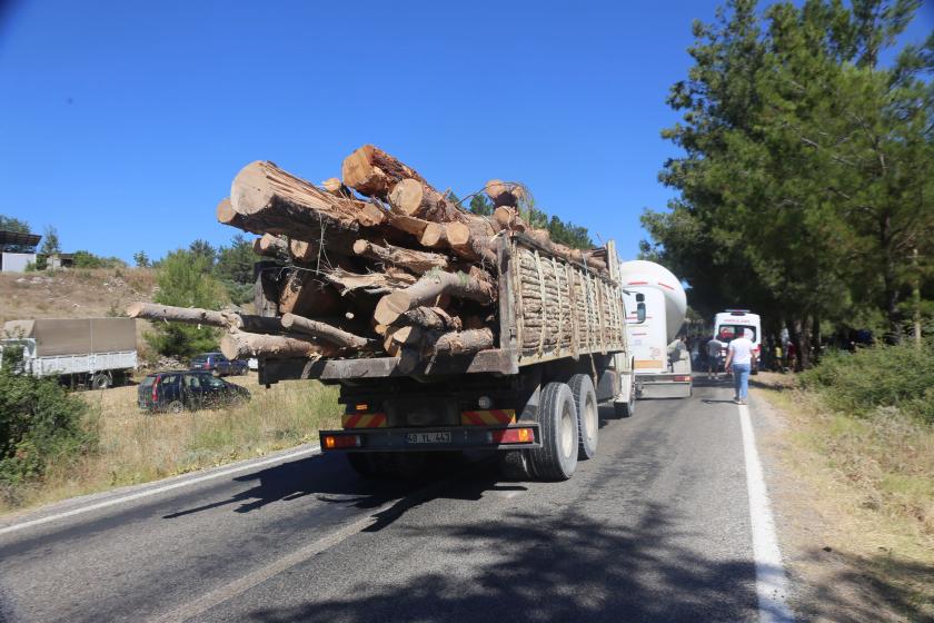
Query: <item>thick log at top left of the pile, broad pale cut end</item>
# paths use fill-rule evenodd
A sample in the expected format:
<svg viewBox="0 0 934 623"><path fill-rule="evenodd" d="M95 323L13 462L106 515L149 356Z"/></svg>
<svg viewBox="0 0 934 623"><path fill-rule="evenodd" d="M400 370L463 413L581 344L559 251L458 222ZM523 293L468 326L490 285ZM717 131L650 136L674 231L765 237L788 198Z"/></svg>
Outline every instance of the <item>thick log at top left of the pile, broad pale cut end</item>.
<svg viewBox="0 0 934 623"><path fill-rule="evenodd" d="M230 205L240 216L241 229L309 241L344 238L352 244L361 225L372 225L365 202L330 195L265 161L251 162L237 174Z"/></svg>

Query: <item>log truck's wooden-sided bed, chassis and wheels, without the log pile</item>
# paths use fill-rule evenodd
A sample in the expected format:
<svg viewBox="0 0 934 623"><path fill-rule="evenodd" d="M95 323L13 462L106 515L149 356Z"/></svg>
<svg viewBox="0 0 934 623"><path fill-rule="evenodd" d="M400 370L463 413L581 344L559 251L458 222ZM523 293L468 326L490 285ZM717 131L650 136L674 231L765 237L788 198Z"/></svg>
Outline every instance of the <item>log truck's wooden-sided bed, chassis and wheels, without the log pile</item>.
<svg viewBox="0 0 934 623"><path fill-rule="evenodd" d="M598 405L633 413L635 379L613 243L588 257L557 257L520 234L495 248L493 348L400 357L260 357L259 382L340 386L342 427L321 431L325 453L346 453L365 476L417 474L433 453L493 451L514 478L563 481L597 452ZM257 287L257 309L270 307ZM272 305L275 308L275 305Z"/></svg>

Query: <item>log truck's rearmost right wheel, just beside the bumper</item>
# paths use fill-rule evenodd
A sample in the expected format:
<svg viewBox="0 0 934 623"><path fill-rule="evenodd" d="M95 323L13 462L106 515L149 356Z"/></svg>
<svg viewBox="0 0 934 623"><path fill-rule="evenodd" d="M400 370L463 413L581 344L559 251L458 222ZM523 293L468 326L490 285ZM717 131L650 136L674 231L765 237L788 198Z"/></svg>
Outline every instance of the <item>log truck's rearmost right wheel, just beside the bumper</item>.
<svg viewBox="0 0 934 623"><path fill-rule="evenodd" d="M533 473L544 481L566 481L577 468L577 408L570 387L549 383L538 403L541 447L528 451Z"/></svg>

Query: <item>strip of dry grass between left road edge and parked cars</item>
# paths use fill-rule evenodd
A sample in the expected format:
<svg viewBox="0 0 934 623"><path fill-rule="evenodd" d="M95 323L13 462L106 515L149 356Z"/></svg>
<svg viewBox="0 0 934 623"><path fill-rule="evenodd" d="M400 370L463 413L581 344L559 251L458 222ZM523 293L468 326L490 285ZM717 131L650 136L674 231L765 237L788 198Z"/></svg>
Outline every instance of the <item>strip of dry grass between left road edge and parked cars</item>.
<svg viewBox="0 0 934 623"><path fill-rule="evenodd" d="M339 427L334 387L296 380L265 389L255 376L231 380L250 389L248 404L180 415L142 414L136 406L136 387L85 394L91 406L89 425L99 433L99 452L77 463L52 465L41 485L21 492L19 507L261 456L315 441L319 428Z"/></svg>

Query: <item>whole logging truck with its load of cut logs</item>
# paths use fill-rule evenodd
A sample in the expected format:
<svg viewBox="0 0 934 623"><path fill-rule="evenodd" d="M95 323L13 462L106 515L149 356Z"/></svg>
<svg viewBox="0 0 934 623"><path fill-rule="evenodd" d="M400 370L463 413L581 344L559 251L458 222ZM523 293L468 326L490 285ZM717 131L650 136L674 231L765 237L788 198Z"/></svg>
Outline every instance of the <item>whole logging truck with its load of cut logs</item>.
<svg viewBox="0 0 934 623"><path fill-rule="evenodd" d="M256 357L267 386L339 385L342 426L320 432L321 449L365 476L479 449L510 477L569 478L597 452L598 404L633 412L614 245L555 243L523 220L517 182L488 181L483 216L372 145L341 171L314 185L258 160L217 205L220 222L260 236L256 314L127 315L227 329L223 354Z"/></svg>

